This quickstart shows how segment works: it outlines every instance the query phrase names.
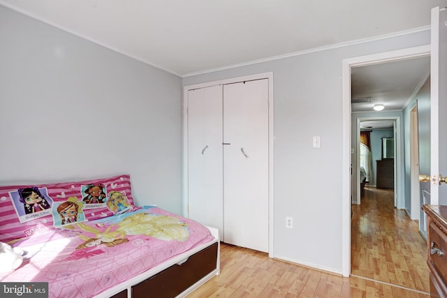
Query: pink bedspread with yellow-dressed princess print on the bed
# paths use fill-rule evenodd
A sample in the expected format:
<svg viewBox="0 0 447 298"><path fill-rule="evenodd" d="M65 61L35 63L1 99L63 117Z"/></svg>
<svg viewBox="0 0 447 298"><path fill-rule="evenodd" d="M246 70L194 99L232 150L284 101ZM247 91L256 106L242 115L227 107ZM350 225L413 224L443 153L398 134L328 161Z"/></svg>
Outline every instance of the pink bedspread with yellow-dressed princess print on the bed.
<svg viewBox="0 0 447 298"><path fill-rule="evenodd" d="M27 260L0 281L45 281L50 297L93 297L212 239L195 221L142 207L17 241Z"/></svg>

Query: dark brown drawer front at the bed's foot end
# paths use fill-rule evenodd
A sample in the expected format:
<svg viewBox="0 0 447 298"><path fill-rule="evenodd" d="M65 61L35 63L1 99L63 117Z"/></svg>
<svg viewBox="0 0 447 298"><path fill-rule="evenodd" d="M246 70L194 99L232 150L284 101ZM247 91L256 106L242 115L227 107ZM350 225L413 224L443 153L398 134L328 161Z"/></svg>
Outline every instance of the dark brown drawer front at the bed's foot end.
<svg viewBox="0 0 447 298"><path fill-rule="evenodd" d="M133 298L175 297L216 269L218 244L191 255L181 265L173 265L132 287ZM173 282L174 281L174 282Z"/></svg>

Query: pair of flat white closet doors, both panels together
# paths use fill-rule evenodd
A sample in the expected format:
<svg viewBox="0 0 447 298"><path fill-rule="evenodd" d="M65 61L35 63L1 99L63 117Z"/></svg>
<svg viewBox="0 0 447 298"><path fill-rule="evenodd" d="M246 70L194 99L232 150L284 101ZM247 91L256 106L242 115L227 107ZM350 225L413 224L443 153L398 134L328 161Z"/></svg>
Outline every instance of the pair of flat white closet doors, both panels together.
<svg viewBox="0 0 447 298"><path fill-rule="evenodd" d="M188 92L189 218L268 252L268 79Z"/></svg>

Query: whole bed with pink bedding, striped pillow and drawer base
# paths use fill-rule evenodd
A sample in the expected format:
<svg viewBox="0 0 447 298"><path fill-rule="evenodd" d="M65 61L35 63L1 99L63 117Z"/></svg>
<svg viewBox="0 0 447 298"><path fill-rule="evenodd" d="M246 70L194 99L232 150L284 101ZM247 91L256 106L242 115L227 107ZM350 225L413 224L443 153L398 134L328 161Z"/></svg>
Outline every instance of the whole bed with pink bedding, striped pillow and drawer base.
<svg viewBox="0 0 447 298"><path fill-rule="evenodd" d="M0 216L0 241L26 252L0 281L47 282L49 297L184 297L219 274L219 232L136 207L129 175L0 186Z"/></svg>

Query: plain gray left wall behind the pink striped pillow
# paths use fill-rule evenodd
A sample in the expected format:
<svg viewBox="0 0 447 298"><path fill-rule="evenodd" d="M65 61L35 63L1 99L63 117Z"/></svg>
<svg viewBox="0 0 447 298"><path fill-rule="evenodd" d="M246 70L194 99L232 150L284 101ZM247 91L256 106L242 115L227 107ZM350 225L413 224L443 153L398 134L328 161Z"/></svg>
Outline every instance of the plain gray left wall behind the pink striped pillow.
<svg viewBox="0 0 447 298"><path fill-rule="evenodd" d="M129 173L182 213L182 80L0 6L0 184Z"/></svg>

